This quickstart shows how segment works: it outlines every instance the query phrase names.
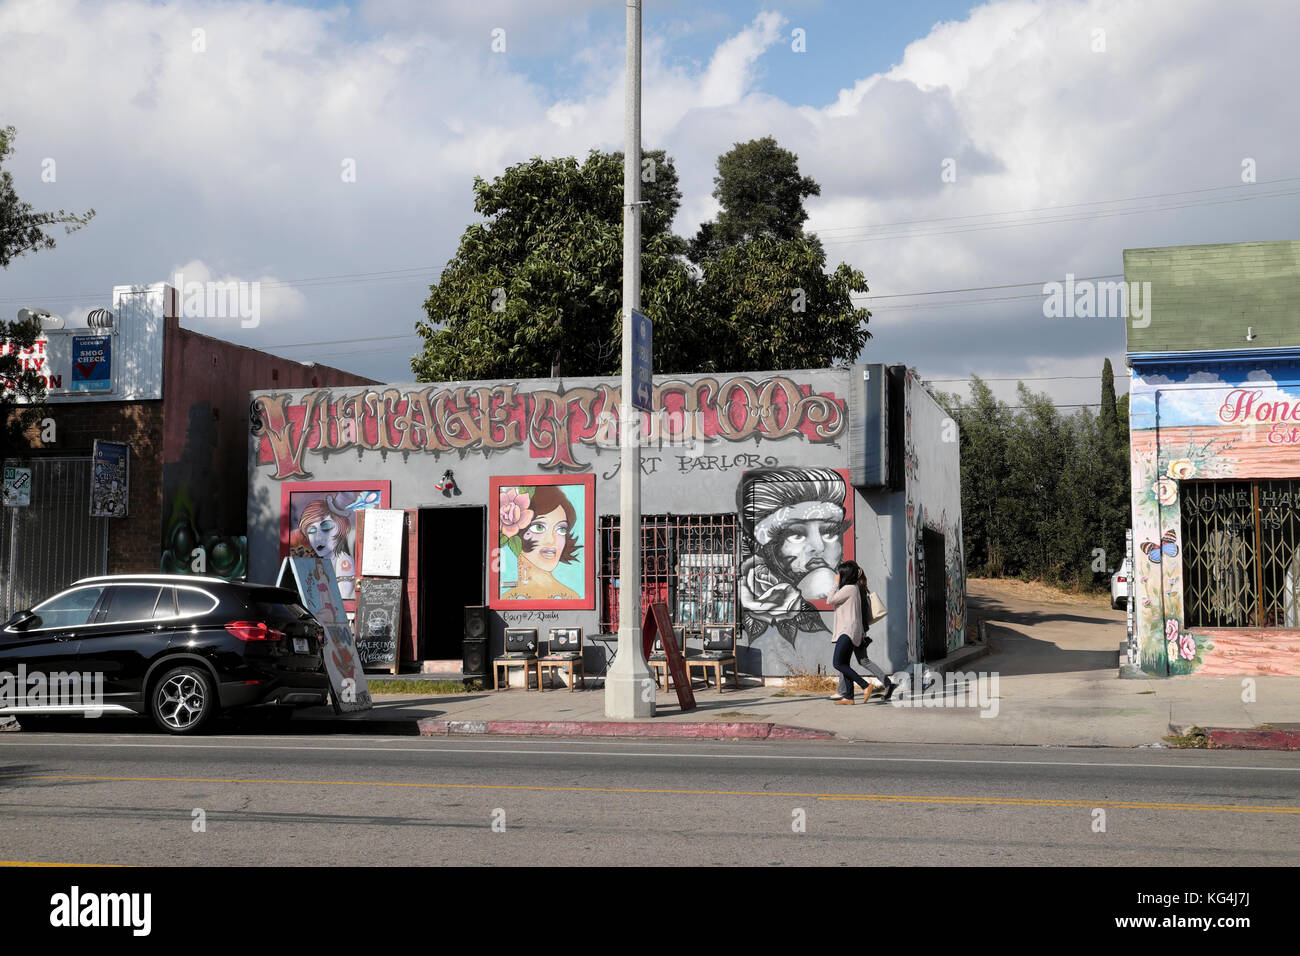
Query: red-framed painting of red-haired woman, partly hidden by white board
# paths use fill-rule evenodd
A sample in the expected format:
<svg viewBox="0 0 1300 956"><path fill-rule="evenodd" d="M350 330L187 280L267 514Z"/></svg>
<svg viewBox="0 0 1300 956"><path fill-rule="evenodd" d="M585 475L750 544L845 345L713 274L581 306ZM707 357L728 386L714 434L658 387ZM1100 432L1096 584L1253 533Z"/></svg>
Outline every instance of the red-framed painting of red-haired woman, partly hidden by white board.
<svg viewBox="0 0 1300 956"><path fill-rule="evenodd" d="M390 481L285 481L280 486L280 557L324 558L343 607L356 610L356 512L389 506Z"/></svg>

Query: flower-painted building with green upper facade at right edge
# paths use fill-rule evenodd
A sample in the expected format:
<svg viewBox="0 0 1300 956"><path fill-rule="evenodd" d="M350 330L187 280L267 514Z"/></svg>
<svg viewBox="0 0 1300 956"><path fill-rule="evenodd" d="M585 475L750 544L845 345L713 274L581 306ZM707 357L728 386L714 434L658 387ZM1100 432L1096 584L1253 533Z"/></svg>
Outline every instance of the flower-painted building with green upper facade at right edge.
<svg viewBox="0 0 1300 956"><path fill-rule="evenodd" d="M1124 278L1130 658L1300 675L1300 242L1124 250Z"/></svg>

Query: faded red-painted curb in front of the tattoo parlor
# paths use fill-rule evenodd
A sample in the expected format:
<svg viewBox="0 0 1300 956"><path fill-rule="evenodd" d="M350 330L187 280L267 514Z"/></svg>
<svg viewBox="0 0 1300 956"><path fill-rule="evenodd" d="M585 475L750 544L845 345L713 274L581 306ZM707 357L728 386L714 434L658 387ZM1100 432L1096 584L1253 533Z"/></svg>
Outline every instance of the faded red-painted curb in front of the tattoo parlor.
<svg viewBox="0 0 1300 956"><path fill-rule="evenodd" d="M421 736L495 734L562 737L696 737L710 740L835 740L824 730L723 721L439 721L420 718Z"/></svg>

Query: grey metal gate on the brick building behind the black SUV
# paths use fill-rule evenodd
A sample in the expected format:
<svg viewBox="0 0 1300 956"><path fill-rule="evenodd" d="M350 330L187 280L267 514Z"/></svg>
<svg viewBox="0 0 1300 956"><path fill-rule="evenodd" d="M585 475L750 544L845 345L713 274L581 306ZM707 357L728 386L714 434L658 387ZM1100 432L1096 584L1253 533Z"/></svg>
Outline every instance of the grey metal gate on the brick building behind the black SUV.
<svg viewBox="0 0 1300 956"><path fill-rule="evenodd" d="M31 468L31 505L0 515L4 620L78 578L108 570L108 519L90 516L90 458L6 462Z"/></svg>

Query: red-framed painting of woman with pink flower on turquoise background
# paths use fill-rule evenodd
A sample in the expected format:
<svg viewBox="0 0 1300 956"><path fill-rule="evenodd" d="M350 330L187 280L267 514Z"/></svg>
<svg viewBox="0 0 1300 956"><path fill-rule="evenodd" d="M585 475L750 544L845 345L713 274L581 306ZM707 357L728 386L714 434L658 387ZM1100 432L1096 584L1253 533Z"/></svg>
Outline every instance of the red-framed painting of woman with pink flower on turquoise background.
<svg viewBox="0 0 1300 956"><path fill-rule="evenodd" d="M489 479L488 604L595 607L595 475Z"/></svg>

